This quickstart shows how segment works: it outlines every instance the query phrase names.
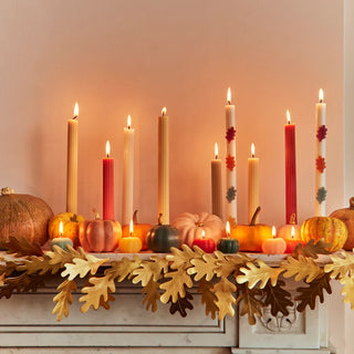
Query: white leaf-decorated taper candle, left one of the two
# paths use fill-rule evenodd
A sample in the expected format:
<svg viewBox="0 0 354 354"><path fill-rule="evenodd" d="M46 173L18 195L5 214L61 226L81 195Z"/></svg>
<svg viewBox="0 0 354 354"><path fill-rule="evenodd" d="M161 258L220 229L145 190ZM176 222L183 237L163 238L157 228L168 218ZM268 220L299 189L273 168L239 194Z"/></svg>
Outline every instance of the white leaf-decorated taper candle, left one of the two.
<svg viewBox="0 0 354 354"><path fill-rule="evenodd" d="M231 104L231 90L228 88L228 104L226 105L226 198L227 219L235 218L237 221L237 187L236 187L236 127L235 105Z"/></svg>

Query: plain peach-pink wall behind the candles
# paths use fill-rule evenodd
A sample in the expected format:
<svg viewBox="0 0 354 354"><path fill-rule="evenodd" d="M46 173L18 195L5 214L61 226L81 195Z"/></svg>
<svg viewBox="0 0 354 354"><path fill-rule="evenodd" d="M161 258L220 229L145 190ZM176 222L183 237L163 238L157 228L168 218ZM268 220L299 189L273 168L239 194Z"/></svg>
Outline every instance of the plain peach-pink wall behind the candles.
<svg viewBox="0 0 354 354"><path fill-rule="evenodd" d="M299 221L313 215L320 87L327 103L327 211L344 206L344 0L1 0L0 51L0 186L39 196L55 214L65 208L66 119L75 101L81 214L102 209L110 139L121 219L123 127L131 114L134 204L140 221L155 222L163 106L170 117L171 220L183 211L210 211L210 159L215 142L225 158L228 86L237 105L239 221L247 220L247 158L254 143L261 220L284 222L287 108L296 123ZM348 162L353 143L345 137ZM352 170L345 169L346 196ZM343 353L339 301L330 301L330 337Z"/></svg>

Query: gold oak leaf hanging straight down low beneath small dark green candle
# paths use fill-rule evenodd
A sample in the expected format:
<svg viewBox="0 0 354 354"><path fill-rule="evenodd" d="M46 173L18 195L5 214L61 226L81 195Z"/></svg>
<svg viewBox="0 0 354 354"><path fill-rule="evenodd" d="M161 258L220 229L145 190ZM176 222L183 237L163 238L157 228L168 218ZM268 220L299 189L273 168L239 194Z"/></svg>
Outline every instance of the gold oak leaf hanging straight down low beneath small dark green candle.
<svg viewBox="0 0 354 354"><path fill-rule="evenodd" d="M220 281L214 285L212 291L217 298L215 304L219 312L218 320L223 320L227 314L233 316L235 310L232 305L236 304L236 299L233 298L232 292L236 292L236 285L227 278L221 278Z"/></svg>

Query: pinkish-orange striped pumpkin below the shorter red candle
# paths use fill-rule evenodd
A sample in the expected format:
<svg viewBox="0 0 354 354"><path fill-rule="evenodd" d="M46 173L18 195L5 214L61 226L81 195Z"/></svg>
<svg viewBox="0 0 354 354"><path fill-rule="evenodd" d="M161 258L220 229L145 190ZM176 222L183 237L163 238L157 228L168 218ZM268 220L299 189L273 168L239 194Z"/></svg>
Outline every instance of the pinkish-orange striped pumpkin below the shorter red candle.
<svg viewBox="0 0 354 354"><path fill-rule="evenodd" d="M115 220L101 220L97 211L95 220L80 223L80 243L86 252L113 252L122 238L122 227Z"/></svg>

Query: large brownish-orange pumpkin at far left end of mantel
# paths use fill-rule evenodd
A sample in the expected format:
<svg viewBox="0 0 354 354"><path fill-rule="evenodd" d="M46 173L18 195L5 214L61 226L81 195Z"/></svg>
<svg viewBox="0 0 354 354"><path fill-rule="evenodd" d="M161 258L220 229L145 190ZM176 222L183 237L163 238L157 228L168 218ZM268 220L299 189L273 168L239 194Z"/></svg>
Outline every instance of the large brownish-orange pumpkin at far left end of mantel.
<svg viewBox="0 0 354 354"><path fill-rule="evenodd" d="M48 222L52 209L40 198L14 194L2 188L0 196L0 241L24 237L30 242L44 244L48 240Z"/></svg>

